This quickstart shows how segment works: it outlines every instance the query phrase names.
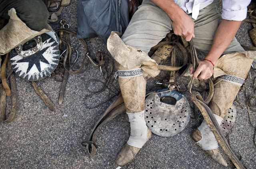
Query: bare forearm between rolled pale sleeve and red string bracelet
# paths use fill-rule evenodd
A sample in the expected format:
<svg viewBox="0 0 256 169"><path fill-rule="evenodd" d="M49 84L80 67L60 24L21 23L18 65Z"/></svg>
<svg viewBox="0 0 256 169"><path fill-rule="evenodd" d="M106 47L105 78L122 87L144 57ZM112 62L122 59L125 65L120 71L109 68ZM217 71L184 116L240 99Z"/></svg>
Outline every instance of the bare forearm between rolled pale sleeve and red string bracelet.
<svg viewBox="0 0 256 169"><path fill-rule="evenodd" d="M214 64L233 40L242 21L222 20L215 33L212 47L205 59Z"/></svg>

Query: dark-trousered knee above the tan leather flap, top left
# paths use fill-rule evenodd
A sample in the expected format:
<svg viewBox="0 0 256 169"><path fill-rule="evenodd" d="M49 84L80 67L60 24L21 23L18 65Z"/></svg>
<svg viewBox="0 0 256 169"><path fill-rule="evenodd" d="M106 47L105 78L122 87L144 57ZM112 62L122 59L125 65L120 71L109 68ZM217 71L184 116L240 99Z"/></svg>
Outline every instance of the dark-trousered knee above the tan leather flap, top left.
<svg viewBox="0 0 256 169"><path fill-rule="evenodd" d="M32 30L40 31L47 23L49 13L42 0L26 0L16 9L18 17Z"/></svg>

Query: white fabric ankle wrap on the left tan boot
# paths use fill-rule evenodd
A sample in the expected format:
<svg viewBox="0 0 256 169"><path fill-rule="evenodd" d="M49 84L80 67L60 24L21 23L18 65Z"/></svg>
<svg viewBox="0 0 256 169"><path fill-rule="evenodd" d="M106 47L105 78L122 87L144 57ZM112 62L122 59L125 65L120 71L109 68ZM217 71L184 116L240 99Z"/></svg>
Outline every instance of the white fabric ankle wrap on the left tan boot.
<svg viewBox="0 0 256 169"><path fill-rule="evenodd" d="M133 147L142 148L147 142L148 127L144 119L144 112L145 110L138 113L127 113L131 126L131 133L127 144Z"/></svg>

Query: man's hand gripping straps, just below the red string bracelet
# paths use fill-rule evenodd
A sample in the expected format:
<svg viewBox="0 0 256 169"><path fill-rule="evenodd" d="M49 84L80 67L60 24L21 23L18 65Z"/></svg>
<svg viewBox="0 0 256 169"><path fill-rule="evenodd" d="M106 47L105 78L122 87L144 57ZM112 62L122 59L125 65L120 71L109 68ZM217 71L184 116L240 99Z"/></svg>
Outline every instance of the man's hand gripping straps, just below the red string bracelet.
<svg viewBox="0 0 256 169"><path fill-rule="evenodd" d="M190 67L190 74L193 74L193 67ZM211 62L207 60L203 60L199 62L198 68L193 74L193 78L197 78L198 80L206 80L209 79L213 74L213 65Z"/></svg>

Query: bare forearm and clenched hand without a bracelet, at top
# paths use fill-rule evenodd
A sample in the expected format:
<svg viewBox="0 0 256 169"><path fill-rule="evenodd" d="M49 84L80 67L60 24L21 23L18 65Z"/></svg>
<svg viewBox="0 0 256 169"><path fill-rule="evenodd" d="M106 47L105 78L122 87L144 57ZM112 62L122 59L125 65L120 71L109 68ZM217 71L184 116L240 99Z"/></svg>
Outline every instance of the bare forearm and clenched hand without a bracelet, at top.
<svg viewBox="0 0 256 169"><path fill-rule="evenodd" d="M186 41L195 37L194 22L173 0L152 0L164 10L172 20L174 34L182 36Z"/></svg>

